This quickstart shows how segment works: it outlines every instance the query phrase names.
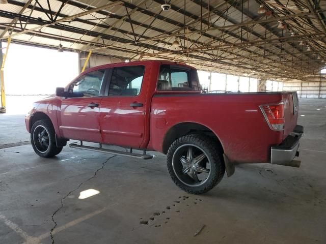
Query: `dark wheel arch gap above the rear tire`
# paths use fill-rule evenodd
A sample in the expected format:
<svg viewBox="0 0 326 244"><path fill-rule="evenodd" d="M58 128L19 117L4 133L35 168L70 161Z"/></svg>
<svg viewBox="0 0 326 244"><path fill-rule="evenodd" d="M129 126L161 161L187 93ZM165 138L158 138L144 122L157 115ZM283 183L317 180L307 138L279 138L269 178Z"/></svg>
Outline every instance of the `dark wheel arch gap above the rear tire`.
<svg viewBox="0 0 326 244"><path fill-rule="evenodd" d="M170 145L176 139L189 134L202 134L211 137L212 140L218 144L219 149L221 149L221 153L224 153L223 144L219 136L216 135L210 128L194 122L183 122L171 127L165 135L162 144L162 153L167 154Z"/></svg>

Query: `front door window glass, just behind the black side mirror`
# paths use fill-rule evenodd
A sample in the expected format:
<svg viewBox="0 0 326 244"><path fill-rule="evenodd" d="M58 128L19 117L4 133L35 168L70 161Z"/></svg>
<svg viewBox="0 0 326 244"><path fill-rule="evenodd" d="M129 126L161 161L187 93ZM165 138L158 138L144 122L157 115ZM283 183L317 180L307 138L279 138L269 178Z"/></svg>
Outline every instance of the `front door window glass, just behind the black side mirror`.
<svg viewBox="0 0 326 244"><path fill-rule="evenodd" d="M69 87L70 93L82 93L84 97L100 95L104 70L96 70L75 80Z"/></svg>

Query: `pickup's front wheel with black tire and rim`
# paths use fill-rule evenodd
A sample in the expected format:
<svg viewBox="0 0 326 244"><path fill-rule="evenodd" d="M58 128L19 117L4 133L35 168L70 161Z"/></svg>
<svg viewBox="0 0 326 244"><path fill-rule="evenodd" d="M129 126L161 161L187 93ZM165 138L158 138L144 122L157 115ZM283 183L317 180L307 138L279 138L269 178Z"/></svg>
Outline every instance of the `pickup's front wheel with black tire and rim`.
<svg viewBox="0 0 326 244"><path fill-rule="evenodd" d="M56 133L50 120L37 120L31 129L31 143L35 153L43 158L60 154L62 147L57 147Z"/></svg>

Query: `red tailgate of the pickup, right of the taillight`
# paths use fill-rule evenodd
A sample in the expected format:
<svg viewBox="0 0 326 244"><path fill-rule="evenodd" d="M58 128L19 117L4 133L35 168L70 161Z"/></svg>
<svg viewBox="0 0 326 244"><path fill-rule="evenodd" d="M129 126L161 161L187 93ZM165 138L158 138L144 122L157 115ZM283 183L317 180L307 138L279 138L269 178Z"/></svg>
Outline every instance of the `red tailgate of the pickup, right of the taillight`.
<svg viewBox="0 0 326 244"><path fill-rule="evenodd" d="M297 123L298 116L298 99L297 93L283 93L282 98L284 101L284 134L285 139L291 132Z"/></svg>

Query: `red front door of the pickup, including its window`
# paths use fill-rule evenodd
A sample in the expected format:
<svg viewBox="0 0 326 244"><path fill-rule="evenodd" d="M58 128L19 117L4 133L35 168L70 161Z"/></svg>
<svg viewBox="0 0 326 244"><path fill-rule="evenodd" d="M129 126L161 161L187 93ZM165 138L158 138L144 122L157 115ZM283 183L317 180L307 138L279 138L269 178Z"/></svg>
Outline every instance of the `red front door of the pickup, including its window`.
<svg viewBox="0 0 326 244"><path fill-rule="evenodd" d="M69 93L84 96L62 99L59 124L64 138L101 142L99 110L105 76L105 70L91 71L69 86Z"/></svg>

